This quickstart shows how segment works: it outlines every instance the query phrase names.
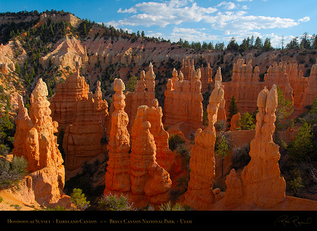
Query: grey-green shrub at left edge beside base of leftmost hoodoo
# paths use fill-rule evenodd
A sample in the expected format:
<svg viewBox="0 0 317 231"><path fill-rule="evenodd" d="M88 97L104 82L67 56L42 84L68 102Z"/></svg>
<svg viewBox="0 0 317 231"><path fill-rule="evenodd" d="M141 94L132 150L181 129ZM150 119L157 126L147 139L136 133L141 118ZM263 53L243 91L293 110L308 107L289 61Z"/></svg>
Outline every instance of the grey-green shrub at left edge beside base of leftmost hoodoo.
<svg viewBox="0 0 317 231"><path fill-rule="evenodd" d="M0 161L0 186L16 185L26 175L27 162L24 157L13 157L12 162Z"/></svg>

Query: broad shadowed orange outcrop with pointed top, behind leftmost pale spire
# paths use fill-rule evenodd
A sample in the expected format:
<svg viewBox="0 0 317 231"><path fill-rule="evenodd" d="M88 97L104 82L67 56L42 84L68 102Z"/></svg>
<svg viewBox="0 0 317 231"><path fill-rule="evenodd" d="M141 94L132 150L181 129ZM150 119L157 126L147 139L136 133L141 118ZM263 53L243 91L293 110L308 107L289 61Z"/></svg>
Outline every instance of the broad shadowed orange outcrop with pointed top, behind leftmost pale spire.
<svg viewBox="0 0 317 231"><path fill-rule="evenodd" d="M74 72L65 83L56 85L56 93L50 99L52 117L59 124L59 130L65 129L76 119L76 105L80 101L88 99L89 85L85 77L80 76L79 69Z"/></svg>

